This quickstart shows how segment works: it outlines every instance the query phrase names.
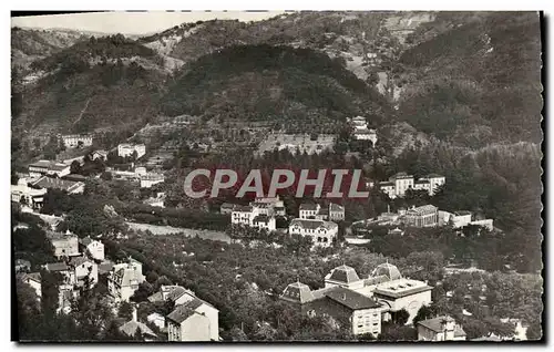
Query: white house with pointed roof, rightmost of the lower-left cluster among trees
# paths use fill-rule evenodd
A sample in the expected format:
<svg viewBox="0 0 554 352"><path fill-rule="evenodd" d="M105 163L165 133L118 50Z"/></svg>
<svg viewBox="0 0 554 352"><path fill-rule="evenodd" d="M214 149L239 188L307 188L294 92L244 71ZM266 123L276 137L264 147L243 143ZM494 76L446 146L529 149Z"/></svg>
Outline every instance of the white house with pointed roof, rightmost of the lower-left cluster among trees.
<svg viewBox="0 0 554 352"><path fill-rule="evenodd" d="M107 290L116 302L129 302L138 284L144 281L142 263L130 257L127 262L113 266L107 275Z"/></svg>

